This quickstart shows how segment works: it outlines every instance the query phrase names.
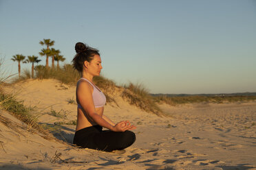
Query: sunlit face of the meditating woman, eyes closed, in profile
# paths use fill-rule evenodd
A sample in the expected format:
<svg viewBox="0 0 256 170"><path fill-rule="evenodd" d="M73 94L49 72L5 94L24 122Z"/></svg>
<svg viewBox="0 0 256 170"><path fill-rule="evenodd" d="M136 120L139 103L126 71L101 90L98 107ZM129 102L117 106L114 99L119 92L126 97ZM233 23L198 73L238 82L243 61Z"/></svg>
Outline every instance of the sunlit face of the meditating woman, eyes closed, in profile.
<svg viewBox="0 0 256 170"><path fill-rule="evenodd" d="M86 62L85 66L87 66L87 71L94 76L100 75L100 70L103 69L100 56L98 55L95 55L91 62Z"/></svg>

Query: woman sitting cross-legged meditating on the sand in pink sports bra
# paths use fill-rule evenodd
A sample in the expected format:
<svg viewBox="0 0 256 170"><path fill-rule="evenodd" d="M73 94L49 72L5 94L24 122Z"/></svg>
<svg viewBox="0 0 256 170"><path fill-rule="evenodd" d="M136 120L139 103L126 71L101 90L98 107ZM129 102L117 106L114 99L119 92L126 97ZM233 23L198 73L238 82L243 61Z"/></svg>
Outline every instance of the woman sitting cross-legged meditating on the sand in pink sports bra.
<svg viewBox="0 0 256 170"><path fill-rule="evenodd" d="M77 125L74 144L102 151L121 150L129 147L136 140L136 127L129 121L114 123L104 114L106 97L92 82L100 75L101 66L98 50L82 42L76 43L76 56L72 60L74 68L81 73L76 85ZM102 130L106 127L109 130Z"/></svg>

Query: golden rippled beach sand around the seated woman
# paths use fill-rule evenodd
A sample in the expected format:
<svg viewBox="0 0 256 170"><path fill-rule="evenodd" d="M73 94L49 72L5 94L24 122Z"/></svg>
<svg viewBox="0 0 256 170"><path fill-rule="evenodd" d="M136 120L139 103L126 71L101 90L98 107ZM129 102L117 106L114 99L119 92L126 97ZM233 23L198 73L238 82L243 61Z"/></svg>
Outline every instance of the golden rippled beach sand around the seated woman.
<svg viewBox="0 0 256 170"><path fill-rule="evenodd" d="M75 100L75 86L29 80L4 89L34 107L41 123L76 120L76 104L68 103ZM158 117L127 104L118 90L113 96L118 106L107 104L105 114L137 126L136 143L124 154L72 146L75 125L60 125L47 140L1 110L9 123L0 121L0 169L256 169L256 101L162 104L169 116Z"/></svg>

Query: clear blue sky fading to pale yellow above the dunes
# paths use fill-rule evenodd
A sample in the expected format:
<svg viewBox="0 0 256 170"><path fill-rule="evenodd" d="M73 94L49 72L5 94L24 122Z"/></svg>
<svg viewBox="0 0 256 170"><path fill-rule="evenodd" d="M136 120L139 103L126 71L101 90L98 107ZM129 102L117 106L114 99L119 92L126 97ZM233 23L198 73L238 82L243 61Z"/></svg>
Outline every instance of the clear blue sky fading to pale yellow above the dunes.
<svg viewBox="0 0 256 170"><path fill-rule="evenodd" d="M99 49L105 77L150 93L256 92L255 0L0 0L0 57L10 73L18 70L10 58L39 56L43 38L65 63L76 42Z"/></svg>

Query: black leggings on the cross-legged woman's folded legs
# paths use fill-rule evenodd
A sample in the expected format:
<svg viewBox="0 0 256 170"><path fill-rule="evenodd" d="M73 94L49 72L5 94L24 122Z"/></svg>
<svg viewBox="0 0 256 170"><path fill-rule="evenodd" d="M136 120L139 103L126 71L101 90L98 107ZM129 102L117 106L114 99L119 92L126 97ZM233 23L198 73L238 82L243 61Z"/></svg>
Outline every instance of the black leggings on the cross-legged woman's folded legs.
<svg viewBox="0 0 256 170"><path fill-rule="evenodd" d="M129 130L113 132L103 130L100 125L94 125L76 131L73 143L83 148L114 151L131 146L135 140L134 132Z"/></svg>

